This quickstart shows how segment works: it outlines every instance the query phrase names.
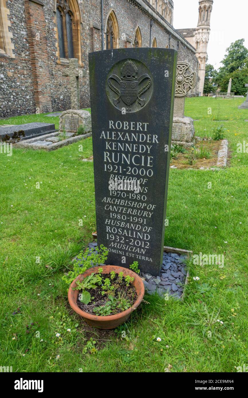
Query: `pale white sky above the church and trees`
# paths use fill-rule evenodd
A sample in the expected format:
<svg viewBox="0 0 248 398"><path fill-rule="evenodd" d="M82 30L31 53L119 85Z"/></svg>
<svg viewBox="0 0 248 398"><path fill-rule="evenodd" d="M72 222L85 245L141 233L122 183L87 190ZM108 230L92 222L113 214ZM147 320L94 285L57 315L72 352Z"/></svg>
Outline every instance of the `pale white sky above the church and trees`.
<svg viewBox="0 0 248 398"><path fill-rule="evenodd" d="M198 0L173 0L175 29L192 28L198 22ZM248 0L214 0L207 46L208 63L215 69L223 66L227 47L245 39L248 48Z"/></svg>

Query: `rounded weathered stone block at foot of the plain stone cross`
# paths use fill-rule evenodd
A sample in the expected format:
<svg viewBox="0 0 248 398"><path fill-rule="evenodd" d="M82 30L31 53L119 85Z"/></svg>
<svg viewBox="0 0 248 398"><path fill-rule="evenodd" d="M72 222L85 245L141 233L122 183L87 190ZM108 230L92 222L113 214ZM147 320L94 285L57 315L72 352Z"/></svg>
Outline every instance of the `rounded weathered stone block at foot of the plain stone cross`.
<svg viewBox="0 0 248 398"><path fill-rule="evenodd" d="M90 133L91 116L90 112L84 110L68 109L61 113L59 118L59 131L76 134L78 127L83 127L83 134Z"/></svg>

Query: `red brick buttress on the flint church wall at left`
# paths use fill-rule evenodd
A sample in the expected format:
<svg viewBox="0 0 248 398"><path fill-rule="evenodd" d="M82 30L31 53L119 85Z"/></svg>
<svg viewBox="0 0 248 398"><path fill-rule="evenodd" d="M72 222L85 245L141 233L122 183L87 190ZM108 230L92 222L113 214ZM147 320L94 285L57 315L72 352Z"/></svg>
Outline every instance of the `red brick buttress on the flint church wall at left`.
<svg viewBox="0 0 248 398"><path fill-rule="evenodd" d="M25 0L24 4L35 106L40 113L50 112L51 80L44 9L41 4L29 0Z"/></svg>

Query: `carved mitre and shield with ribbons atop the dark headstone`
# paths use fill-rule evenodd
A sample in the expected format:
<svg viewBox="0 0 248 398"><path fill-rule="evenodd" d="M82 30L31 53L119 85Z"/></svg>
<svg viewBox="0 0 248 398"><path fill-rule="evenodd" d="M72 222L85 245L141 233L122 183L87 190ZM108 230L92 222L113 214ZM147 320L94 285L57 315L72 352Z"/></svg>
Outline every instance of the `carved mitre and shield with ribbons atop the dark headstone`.
<svg viewBox="0 0 248 398"><path fill-rule="evenodd" d="M133 112L137 109L132 109L132 105L139 103L143 107L146 103L146 98L141 98L151 86L151 78L147 73L139 76L139 71L135 65L134 60L127 60L120 70L121 76L111 74L107 79L109 88L117 94L117 98L113 98L113 104L118 107L120 100L124 102L127 112ZM117 85L116 85L117 83Z"/></svg>

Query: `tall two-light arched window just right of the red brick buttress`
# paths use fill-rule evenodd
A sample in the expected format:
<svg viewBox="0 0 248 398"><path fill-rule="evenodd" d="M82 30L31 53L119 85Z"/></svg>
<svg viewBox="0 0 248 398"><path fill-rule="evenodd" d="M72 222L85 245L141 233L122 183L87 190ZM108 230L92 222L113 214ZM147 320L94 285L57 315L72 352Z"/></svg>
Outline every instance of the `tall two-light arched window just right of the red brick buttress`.
<svg viewBox="0 0 248 398"><path fill-rule="evenodd" d="M80 22L77 0L56 0L59 59L78 58L81 63Z"/></svg>

